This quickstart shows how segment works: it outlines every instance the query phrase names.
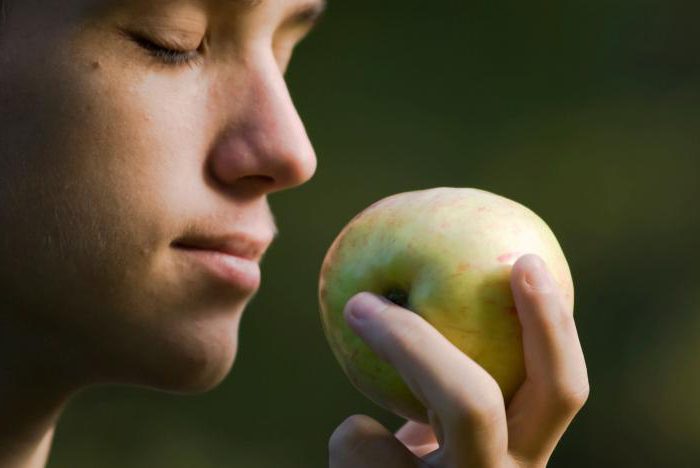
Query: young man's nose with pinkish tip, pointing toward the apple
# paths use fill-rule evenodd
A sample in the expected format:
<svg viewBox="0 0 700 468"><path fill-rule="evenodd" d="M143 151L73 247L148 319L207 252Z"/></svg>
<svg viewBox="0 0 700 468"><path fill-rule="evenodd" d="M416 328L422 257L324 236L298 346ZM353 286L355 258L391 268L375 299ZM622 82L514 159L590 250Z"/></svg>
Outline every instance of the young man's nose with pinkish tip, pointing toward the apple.
<svg viewBox="0 0 700 468"><path fill-rule="evenodd" d="M254 197L308 181L316 154L274 59L246 63L212 103L225 117L209 169L228 191Z"/></svg>

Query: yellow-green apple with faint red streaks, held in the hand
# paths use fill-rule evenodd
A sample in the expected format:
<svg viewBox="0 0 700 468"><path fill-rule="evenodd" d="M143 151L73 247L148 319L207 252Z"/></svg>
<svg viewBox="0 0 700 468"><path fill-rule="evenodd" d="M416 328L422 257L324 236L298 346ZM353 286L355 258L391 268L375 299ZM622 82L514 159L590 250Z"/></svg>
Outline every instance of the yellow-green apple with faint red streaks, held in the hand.
<svg viewBox="0 0 700 468"><path fill-rule="evenodd" d="M544 260L573 309L564 253L527 207L487 191L451 187L372 204L343 228L321 268L321 321L343 371L375 403L428 422L426 408L398 372L345 322L348 300L369 291L420 314L496 380L507 405L525 378L510 272L527 253Z"/></svg>

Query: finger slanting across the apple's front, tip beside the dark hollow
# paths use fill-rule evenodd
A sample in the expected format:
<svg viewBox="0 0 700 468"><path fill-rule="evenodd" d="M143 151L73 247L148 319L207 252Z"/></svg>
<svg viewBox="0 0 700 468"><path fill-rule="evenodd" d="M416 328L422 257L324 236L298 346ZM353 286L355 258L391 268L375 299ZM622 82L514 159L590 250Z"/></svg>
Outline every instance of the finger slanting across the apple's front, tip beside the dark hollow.
<svg viewBox="0 0 700 468"><path fill-rule="evenodd" d="M505 408L498 384L420 315L360 293L348 301L345 317L431 410L451 463L481 466L506 452Z"/></svg>

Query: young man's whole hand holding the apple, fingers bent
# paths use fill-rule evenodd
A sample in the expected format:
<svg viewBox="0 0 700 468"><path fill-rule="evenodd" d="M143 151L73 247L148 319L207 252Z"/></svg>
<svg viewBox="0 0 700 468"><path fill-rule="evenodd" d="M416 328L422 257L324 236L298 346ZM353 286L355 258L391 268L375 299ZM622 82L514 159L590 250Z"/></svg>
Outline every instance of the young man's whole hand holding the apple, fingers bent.
<svg viewBox="0 0 700 468"><path fill-rule="evenodd" d="M349 325L398 370L430 425L408 422L394 435L351 416L331 436L331 467L545 466L588 398L586 364L573 306L539 257L513 265L511 288L527 376L508 408L496 381L418 314L369 293L348 301Z"/></svg>

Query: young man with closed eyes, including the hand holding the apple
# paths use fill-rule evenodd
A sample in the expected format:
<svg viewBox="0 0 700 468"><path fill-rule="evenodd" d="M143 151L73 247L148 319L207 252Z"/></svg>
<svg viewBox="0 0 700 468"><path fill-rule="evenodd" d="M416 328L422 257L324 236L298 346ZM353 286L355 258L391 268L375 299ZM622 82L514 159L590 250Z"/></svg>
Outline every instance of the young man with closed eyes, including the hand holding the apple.
<svg viewBox="0 0 700 468"><path fill-rule="evenodd" d="M316 167L283 74L323 7L5 0L0 466L44 466L80 389L202 392L228 373L276 232L266 197ZM512 287L528 378L508 408L415 314L353 298L348 321L433 424L393 435L351 417L331 466L543 466L587 398L586 369L572 299L541 261L521 258Z"/></svg>

